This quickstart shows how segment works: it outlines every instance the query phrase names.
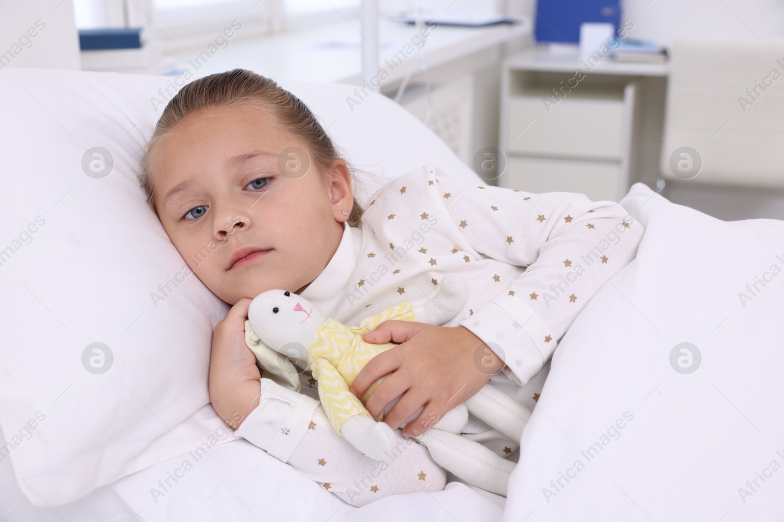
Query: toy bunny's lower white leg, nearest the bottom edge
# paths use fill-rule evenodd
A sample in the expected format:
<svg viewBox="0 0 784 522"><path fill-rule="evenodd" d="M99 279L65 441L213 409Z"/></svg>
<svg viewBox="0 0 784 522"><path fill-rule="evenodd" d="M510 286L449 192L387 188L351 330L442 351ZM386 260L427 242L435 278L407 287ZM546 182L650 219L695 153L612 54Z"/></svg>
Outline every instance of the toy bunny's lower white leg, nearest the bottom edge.
<svg viewBox="0 0 784 522"><path fill-rule="evenodd" d="M491 450L456 434L431 429L419 439L434 461L469 484L506 496L509 477L515 463L495 455Z"/></svg>

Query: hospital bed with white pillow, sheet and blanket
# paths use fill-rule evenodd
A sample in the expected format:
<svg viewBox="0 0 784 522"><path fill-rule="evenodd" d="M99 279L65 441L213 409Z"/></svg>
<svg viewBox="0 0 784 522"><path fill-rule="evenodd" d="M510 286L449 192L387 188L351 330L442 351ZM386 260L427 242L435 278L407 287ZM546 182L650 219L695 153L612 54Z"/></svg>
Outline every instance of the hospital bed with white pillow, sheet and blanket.
<svg viewBox="0 0 784 522"><path fill-rule="evenodd" d="M646 227L637 258L560 341L507 499L451 481L355 508L220 431L207 369L212 327L228 307L198 279L177 283L184 261L135 178L179 86L143 75L0 74L0 520L729 522L784 513L784 471L771 464L784 464L784 222L719 221L642 184L622 200ZM484 183L381 95L350 110L350 86L284 87L359 169L362 203L427 163ZM165 299L152 300L167 283ZM93 343L103 354L96 365ZM209 451L194 455L205 442Z"/></svg>

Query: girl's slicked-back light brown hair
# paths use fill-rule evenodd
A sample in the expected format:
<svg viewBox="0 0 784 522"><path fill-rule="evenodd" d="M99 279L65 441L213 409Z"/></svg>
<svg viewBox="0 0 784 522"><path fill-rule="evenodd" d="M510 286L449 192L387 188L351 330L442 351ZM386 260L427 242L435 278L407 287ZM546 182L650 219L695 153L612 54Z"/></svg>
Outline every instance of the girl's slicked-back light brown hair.
<svg viewBox="0 0 784 522"><path fill-rule="evenodd" d="M266 109L283 131L303 140L310 153L310 162L326 171L333 160L339 159L336 146L324 128L302 100L281 88L270 78L250 70L234 69L210 74L185 85L163 110L152 138L147 142L141 162L139 182L147 194L147 204L155 214L155 197L152 185L152 164L158 145L184 117L209 107L234 106L256 103ZM352 182L354 182L352 173ZM358 227L363 209L354 196L354 204L347 224Z"/></svg>

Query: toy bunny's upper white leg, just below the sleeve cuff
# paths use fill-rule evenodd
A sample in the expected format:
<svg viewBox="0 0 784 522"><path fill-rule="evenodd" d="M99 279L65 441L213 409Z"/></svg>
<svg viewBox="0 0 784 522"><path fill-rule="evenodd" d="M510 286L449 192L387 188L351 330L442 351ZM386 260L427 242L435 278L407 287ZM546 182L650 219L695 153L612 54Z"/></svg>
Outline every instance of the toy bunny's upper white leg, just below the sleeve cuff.
<svg viewBox="0 0 784 522"><path fill-rule="evenodd" d="M520 442L525 423L531 417L530 409L491 384L481 387L465 404L478 419L516 442Z"/></svg>

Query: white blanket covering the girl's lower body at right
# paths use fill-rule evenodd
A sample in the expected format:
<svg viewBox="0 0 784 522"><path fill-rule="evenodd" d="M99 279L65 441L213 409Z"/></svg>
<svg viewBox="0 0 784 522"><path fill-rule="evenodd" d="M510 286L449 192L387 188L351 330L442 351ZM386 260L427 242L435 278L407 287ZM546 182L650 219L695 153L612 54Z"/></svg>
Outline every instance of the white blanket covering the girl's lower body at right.
<svg viewBox="0 0 784 522"><path fill-rule="evenodd" d="M504 520L780 520L784 221L621 204L637 258L557 347Z"/></svg>

